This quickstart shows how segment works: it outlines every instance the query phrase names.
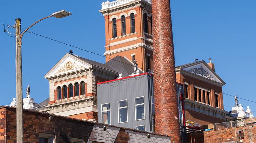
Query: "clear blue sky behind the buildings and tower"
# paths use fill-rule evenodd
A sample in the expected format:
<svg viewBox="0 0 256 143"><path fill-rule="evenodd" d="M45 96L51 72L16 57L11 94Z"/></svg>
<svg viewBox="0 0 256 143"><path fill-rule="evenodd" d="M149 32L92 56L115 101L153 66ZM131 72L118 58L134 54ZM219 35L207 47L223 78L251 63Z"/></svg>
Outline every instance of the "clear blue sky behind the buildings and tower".
<svg viewBox="0 0 256 143"><path fill-rule="evenodd" d="M13 25L21 18L22 29L42 17L65 9L72 16L48 18L30 29L35 33L104 53L105 23L101 0L93 1L32 1L2 2L0 23ZM19 6L16 7L15 6ZM256 101L256 1L255 0L171 0L176 66L194 59L212 58L216 73L227 83L223 93ZM9 105L15 97L15 39L6 36L0 25L1 82L0 105ZM13 29L9 29L14 33ZM41 102L49 96L48 81L44 75L72 50L74 54L98 62L105 59L85 51L26 33L22 38L23 97L31 86L31 97ZM234 98L223 95L224 108L234 106ZM256 104L240 99L246 108L256 111ZM256 112L254 113L256 115Z"/></svg>

